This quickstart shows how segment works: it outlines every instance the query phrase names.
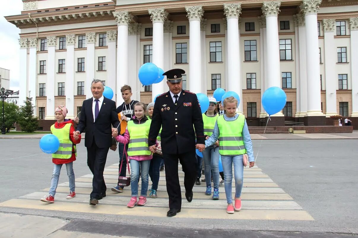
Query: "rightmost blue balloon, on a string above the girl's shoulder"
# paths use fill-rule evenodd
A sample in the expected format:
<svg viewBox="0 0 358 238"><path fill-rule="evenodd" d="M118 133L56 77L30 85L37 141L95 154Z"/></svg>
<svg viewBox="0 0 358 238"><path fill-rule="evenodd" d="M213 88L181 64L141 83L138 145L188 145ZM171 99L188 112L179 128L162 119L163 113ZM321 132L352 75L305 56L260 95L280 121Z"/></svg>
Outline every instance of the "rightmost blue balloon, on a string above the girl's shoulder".
<svg viewBox="0 0 358 238"><path fill-rule="evenodd" d="M285 107L287 96L284 90L279 87L269 87L262 95L263 109L269 115L274 115Z"/></svg>

